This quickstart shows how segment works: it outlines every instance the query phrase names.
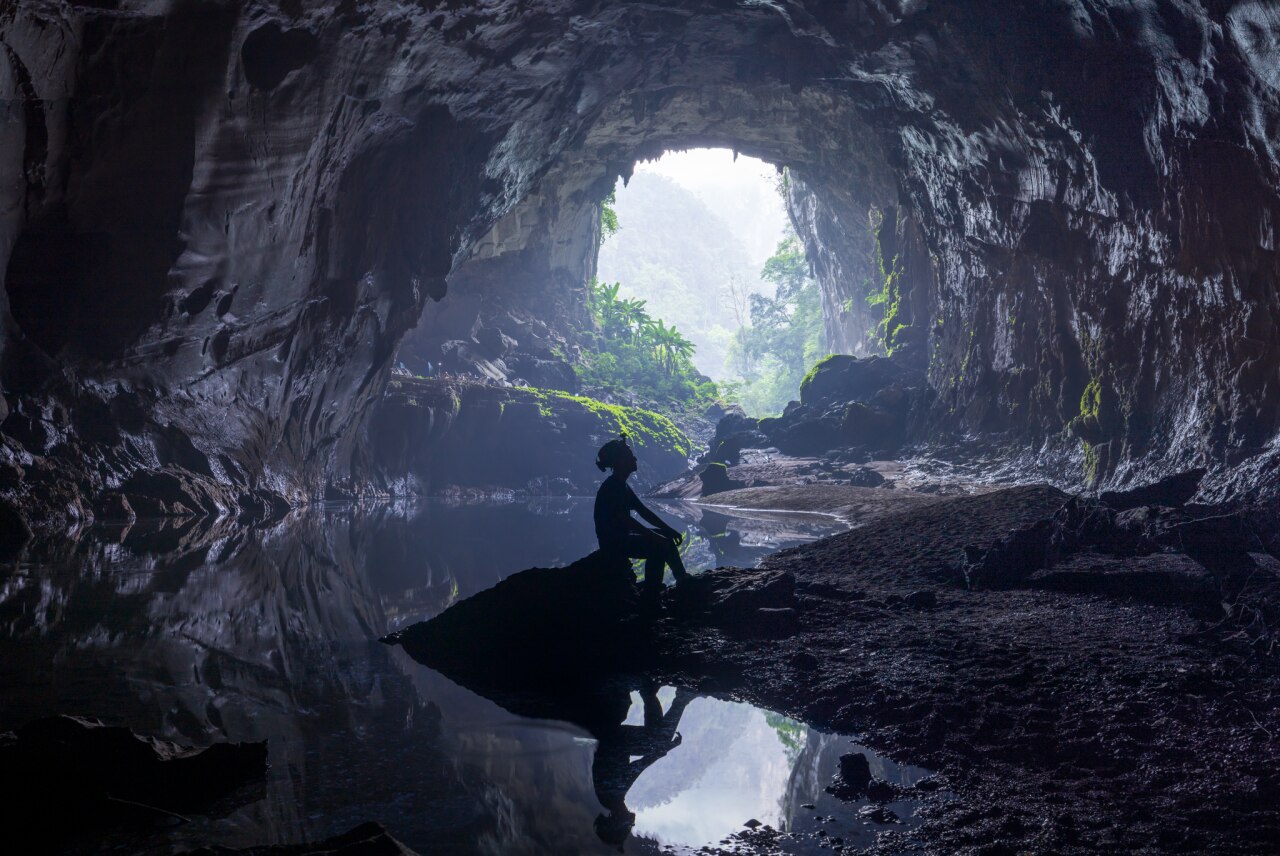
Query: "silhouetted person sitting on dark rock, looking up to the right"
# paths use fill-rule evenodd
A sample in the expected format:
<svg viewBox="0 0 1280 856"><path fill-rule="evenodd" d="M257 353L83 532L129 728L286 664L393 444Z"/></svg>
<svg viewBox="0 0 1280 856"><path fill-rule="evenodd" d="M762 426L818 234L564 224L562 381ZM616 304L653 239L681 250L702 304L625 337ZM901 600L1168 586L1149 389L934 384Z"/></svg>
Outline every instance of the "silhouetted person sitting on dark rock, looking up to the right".
<svg viewBox="0 0 1280 856"><path fill-rule="evenodd" d="M649 511L627 485L627 479L636 471L636 456L627 445L625 434L600 447L595 466L602 472L613 471L595 494L595 537L600 541L600 549L613 555L644 559L644 596L645 600L657 603L666 566L671 567L676 582L689 580L678 549L684 535ZM631 512L640 514L655 528L643 526L631 517Z"/></svg>

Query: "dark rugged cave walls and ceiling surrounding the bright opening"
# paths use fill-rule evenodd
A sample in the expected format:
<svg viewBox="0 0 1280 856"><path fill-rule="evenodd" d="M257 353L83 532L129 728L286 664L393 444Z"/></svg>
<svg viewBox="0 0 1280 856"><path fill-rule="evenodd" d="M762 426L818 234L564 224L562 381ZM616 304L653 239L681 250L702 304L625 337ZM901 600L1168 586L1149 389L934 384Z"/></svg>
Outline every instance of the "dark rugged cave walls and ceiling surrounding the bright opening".
<svg viewBox="0 0 1280 856"><path fill-rule="evenodd" d="M835 333L886 212L918 439L1280 485L1272 4L18 0L0 52L10 518L358 493L428 302L571 349L595 205L696 145L791 168Z"/></svg>

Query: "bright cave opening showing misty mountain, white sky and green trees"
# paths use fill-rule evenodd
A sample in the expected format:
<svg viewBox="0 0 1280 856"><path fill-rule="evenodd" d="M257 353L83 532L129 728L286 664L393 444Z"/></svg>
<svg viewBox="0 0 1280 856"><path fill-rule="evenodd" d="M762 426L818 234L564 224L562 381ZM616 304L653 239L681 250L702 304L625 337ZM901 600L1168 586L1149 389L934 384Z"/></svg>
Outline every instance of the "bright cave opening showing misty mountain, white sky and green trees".
<svg viewBox="0 0 1280 856"><path fill-rule="evenodd" d="M786 171L727 148L636 165L605 203L591 380L655 400L776 415L827 353Z"/></svg>

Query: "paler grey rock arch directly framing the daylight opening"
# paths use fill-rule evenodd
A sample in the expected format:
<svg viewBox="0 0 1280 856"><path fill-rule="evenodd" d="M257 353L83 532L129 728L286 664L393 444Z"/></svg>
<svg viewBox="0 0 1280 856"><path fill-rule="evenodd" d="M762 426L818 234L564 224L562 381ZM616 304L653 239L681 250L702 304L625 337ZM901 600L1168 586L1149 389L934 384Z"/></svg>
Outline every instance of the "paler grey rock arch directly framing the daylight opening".
<svg viewBox="0 0 1280 856"><path fill-rule="evenodd" d="M692 63L690 79L699 68L723 72L714 63ZM705 148L785 164L805 200L803 216L826 218L837 233L855 224L850 257L822 261L817 253L818 281L837 285L822 289L828 345L813 356L872 353L867 312L847 311L864 307L865 296L850 293L846 283L861 288L865 278L850 280L845 273L867 266L870 207L897 201L896 171L878 133L852 104L773 81L717 77L705 86L666 87L660 96L603 99L573 143L520 186L517 201L494 212L488 232L460 248L447 296L425 306L397 361L410 371L428 367L577 392L575 331L591 324L588 292L596 274L602 201L637 164L667 151ZM818 248L805 247L813 256L810 250ZM832 275L823 276L824 269Z"/></svg>

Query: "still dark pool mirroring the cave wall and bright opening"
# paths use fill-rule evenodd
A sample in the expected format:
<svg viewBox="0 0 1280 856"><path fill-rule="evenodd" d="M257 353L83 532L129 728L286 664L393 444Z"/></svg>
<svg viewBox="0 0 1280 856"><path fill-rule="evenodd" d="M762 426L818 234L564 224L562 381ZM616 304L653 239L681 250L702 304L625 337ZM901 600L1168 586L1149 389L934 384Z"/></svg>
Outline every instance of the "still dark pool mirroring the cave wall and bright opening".
<svg viewBox="0 0 1280 856"><path fill-rule="evenodd" d="M691 569L842 528L659 511L689 532ZM298 842L366 820L420 853L681 852L749 819L805 833L794 852L819 852L819 828L850 844L881 834L864 804L823 791L840 755L864 751L847 737L643 685L613 690L626 719L593 734L515 717L378 642L591 551L590 512L586 499L320 507L259 528L140 522L42 548L0 566L0 729L67 713L183 743L268 741L265 787L86 852ZM904 786L924 774L868 757ZM634 814L630 834L602 825L609 806ZM890 807L913 821L909 804Z"/></svg>

